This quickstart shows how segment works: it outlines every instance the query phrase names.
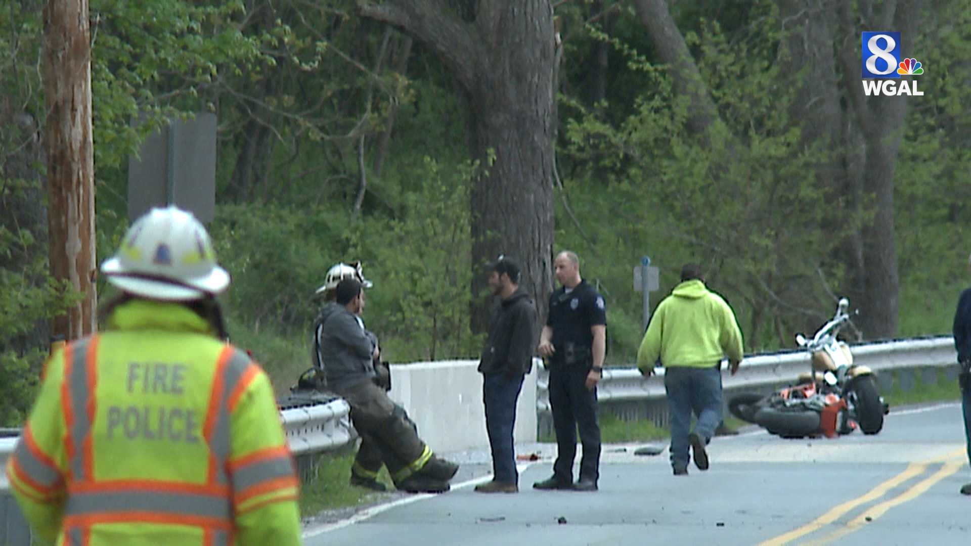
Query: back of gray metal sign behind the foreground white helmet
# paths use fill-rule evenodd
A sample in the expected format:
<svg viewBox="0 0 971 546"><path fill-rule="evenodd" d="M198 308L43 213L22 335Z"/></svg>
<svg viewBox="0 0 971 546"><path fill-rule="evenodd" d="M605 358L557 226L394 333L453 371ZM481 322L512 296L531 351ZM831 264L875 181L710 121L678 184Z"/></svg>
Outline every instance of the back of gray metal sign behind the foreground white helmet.
<svg viewBox="0 0 971 546"><path fill-rule="evenodd" d="M216 209L216 115L175 119L128 158L128 218L174 204L201 222Z"/></svg>

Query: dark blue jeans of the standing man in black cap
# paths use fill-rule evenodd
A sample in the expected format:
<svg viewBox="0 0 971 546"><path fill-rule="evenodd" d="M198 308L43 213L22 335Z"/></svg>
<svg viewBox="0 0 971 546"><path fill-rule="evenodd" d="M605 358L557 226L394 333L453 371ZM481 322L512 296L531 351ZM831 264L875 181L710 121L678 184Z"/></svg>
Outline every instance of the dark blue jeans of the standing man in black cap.
<svg viewBox="0 0 971 546"><path fill-rule="evenodd" d="M504 373L483 376L485 430L492 448L492 474L497 482L519 484L513 429L516 427L516 402L522 390L522 375L510 378Z"/></svg>

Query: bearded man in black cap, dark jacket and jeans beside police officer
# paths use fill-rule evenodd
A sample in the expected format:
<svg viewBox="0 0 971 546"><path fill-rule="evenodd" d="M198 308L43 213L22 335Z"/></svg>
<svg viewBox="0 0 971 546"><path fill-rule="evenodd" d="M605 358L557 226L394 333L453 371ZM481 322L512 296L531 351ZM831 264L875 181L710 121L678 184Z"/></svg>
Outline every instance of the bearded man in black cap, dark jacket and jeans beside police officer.
<svg viewBox="0 0 971 546"><path fill-rule="evenodd" d="M488 285L492 294L501 298L492 311L488 340L479 362L493 478L476 486L476 491L517 493L519 472L513 429L522 380L532 369L537 336L536 305L529 294L519 289L519 265L508 257L499 256L490 264Z"/></svg>

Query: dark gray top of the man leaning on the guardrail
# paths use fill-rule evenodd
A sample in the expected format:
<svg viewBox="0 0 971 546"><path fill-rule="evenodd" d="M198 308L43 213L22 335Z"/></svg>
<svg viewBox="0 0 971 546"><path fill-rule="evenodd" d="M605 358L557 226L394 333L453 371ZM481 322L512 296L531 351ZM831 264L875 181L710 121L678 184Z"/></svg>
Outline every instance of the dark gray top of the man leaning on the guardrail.
<svg viewBox="0 0 971 546"><path fill-rule="evenodd" d="M353 313L338 303L328 303L318 317L318 346L324 362L327 387L340 393L371 381L374 376L373 336L368 336Z"/></svg>

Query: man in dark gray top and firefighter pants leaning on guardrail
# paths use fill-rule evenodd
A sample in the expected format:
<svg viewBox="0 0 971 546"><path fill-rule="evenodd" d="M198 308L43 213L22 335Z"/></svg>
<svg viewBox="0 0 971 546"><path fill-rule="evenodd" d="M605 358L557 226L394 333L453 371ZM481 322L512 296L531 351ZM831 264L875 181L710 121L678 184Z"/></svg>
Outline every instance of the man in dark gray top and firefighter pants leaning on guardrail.
<svg viewBox="0 0 971 546"><path fill-rule="evenodd" d="M449 491L458 465L435 457L404 412L374 381L374 361L380 353L357 321L364 301L361 284L344 279L335 289L334 301L320 313L319 344L327 362L327 386L347 400L354 429L378 447L396 488L410 493ZM365 470L376 473L381 464L375 462L376 468Z"/></svg>

